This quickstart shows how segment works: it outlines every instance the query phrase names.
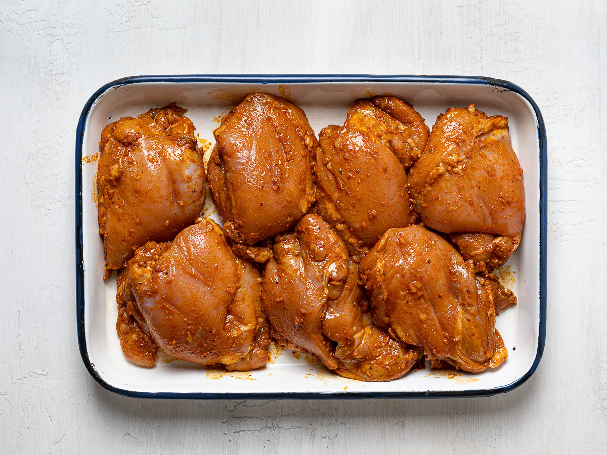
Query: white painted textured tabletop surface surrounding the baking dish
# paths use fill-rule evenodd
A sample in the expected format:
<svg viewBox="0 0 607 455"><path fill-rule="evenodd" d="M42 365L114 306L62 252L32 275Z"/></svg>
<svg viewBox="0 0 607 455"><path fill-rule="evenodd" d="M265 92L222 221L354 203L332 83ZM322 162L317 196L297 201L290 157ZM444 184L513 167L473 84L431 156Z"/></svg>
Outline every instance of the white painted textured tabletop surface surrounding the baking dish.
<svg viewBox="0 0 607 455"><path fill-rule="evenodd" d="M607 2L16 1L0 5L0 452L607 450ZM458 400L135 400L76 342L74 141L123 76L483 75L548 130L548 336L535 375Z"/></svg>

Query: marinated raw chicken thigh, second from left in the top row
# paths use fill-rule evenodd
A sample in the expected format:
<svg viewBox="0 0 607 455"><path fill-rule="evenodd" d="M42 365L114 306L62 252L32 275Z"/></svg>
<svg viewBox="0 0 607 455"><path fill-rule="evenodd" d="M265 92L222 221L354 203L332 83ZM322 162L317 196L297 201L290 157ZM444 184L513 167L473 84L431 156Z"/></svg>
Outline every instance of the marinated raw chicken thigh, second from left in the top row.
<svg viewBox="0 0 607 455"><path fill-rule="evenodd" d="M253 245L293 227L314 202L311 153L318 143L304 111L251 93L214 134L209 188L226 237Z"/></svg>

